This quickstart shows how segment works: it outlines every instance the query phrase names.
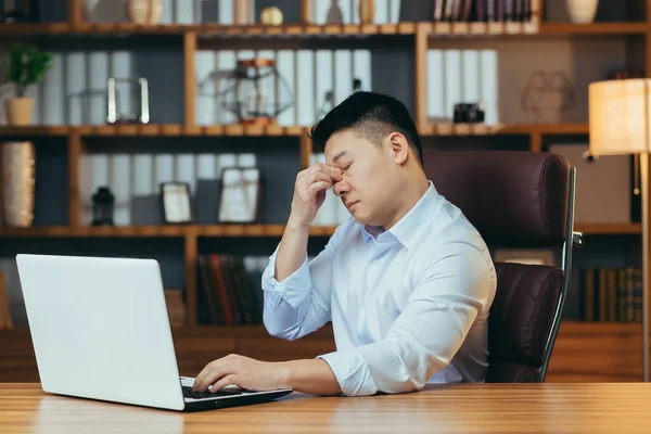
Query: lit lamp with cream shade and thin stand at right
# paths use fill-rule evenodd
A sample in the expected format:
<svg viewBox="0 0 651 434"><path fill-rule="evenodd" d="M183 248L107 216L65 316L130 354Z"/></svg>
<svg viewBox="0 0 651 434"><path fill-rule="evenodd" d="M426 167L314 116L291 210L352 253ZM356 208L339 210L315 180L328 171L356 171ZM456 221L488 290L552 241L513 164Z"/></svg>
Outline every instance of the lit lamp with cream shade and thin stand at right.
<svg viewBox="0 0 651 434"><path fill-rule="evenodd" d="M589 85L590 152L637 154L642 196L642 378L649 381L649 152L651 151L651 78ZM580 176L580 175L579 175Z"/></svg>

